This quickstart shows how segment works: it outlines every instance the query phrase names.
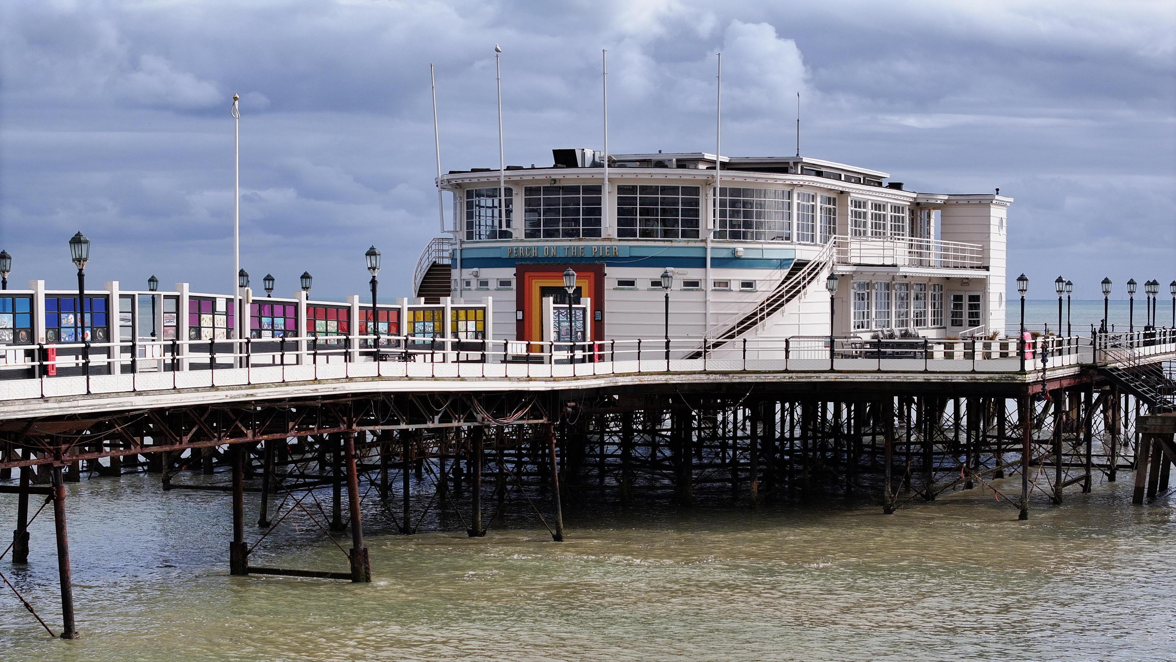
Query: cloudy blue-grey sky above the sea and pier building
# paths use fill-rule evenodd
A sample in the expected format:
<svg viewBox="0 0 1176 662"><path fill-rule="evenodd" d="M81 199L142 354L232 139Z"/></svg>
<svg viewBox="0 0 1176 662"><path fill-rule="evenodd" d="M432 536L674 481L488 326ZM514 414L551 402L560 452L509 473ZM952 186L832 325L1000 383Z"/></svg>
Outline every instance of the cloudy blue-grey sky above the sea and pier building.
<svg viewBox="0 0 1176 662"><path fill-rule="evenodd" d="M13 282L232 284L241 99L241 259L278 292L408 296L436 233L429 64L445 170L614 153L790 154L909 188L1013 196L1010 277L1047 296L1176 278L1176 4L675 0L0 4L0 247ZM448 207L448 201L447 201ZM1011 279L1011 278L1010 278ZM1122 293L1122 287L1118 289ZM382 298L382 297L381 297Z"/></svg>

